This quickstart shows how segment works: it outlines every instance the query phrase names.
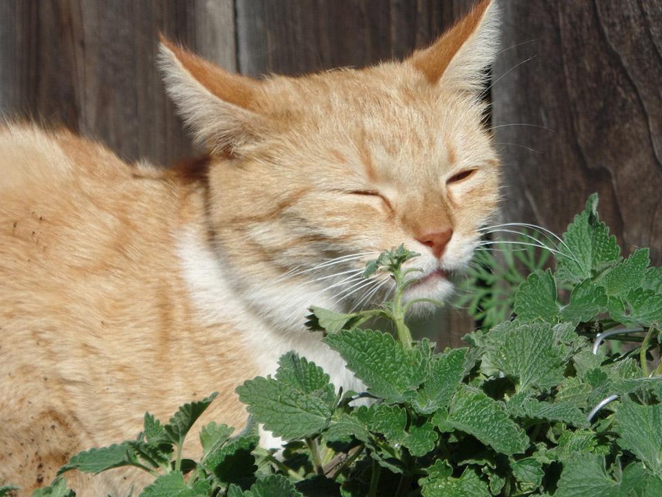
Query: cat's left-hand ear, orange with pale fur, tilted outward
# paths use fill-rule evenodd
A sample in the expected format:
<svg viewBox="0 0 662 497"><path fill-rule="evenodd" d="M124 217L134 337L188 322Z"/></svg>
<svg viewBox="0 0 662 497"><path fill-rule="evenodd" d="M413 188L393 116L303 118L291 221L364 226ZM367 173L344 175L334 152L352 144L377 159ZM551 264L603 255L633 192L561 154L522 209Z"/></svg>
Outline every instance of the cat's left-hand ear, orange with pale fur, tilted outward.
<svg viewBox="0 0 662 497"><path fill-rule="evenodd" d="M234 153L265 132L268 119L254 106L257 79L232 74L163 36L159 65L179 114L212 153Z"/></svg>

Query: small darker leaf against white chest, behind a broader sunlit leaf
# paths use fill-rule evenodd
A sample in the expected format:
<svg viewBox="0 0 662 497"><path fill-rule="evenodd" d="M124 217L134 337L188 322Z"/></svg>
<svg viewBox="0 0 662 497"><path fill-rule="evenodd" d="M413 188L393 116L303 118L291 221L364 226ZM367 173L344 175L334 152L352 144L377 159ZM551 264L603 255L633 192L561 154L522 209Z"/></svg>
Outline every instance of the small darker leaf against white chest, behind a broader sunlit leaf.
<svg viewBox="0 0 662 497"><path fill-rule="evenodd" d="M281 381L301 393L313 393L315 396L328 402L332 406L336 400L334 386L329 376L314 362L306 358L299 358L292 351L284 354L278 361L276 380Z"/></svg>

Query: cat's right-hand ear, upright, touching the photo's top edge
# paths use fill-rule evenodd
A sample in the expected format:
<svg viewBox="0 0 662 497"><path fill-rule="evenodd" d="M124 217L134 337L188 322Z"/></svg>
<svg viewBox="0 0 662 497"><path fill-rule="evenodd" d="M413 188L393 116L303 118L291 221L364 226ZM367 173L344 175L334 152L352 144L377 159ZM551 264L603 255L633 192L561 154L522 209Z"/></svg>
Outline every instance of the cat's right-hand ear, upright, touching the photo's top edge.
<svg viewBox="0 0 662 497"><path fill-rule="evenodd" d="M482 0L437 41L408 59L432 84L478 92L499 46L499 9Z"/></svg>

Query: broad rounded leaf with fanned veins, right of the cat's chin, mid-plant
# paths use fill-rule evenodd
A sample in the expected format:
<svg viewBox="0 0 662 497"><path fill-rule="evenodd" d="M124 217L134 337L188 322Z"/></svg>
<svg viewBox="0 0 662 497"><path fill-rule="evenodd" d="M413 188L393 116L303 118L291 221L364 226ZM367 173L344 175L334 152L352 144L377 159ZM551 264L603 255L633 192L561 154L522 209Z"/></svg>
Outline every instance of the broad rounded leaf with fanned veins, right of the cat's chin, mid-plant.
<svg viewBox="0 0 662 497"><path fill-rule="evenodd" d="M549 389L564 378L565 348L554 340L547 323L511 327L488 357L494 367L518 380L519 391Z"/></svg>

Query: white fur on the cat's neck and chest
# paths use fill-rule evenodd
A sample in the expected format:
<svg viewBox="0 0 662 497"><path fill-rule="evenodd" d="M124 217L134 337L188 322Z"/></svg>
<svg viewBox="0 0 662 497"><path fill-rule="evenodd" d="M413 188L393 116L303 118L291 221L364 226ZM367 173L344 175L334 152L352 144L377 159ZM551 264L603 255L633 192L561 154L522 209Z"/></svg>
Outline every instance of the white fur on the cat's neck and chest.
<svg viewBox="0 0 662 497"><path fill-rule="evenodd" d="M308 300L314 292L305 293L301 288L285 284L265 284L262 291L256 287L253 294L250 290L238 293L227 267L221 266L217 254L205 245L201 233L194 230L179 237L178 252L190 298L201 318L210 327L231 322L236 329L243 330L236 340L252 351L246 360L259 364L259 375L275 373L281 355L296 350L322 367L336 389L363 389L340 355L321 343L321 333L305 330L305 309L310 306ZM272 291L274 288L277 291ZM261 303L262 315L254 311L257 302ZM281 443L280 438L261 430L263 447L279 448Z"/></svg>

